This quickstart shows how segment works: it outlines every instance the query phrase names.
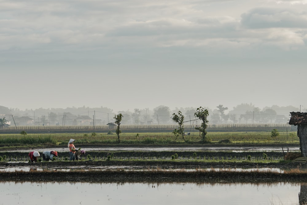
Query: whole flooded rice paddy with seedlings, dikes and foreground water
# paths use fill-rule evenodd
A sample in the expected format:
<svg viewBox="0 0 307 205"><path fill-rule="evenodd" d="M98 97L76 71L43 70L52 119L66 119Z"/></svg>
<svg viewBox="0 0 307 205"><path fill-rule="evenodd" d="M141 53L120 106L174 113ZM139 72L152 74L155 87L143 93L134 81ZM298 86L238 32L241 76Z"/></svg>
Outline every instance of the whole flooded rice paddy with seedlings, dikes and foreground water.
<svg viewBox="0 0 307 205"><path fill-rule="evenodd" d="M306 161L279 162L278 147L95 147L79 161L67 160L67 148L45 150L59 157L29 163L31 149L0 152L0 204L307 203Z"/></svg>

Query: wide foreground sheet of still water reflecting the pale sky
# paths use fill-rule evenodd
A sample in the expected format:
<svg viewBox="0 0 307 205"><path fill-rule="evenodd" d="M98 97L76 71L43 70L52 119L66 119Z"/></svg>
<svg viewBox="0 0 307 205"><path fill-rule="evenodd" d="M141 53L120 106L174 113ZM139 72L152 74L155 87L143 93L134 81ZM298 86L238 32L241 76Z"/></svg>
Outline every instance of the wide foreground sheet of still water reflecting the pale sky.
<svg viewBox="0 0 307 205"><path fill-rule="evenodd" d="M72 176L73 179L73 176ZM306 185L196 183L0 183L0 204L299 204ZM301 193L300 193L301 192ZM300 198L300 199L299 199ZM301 200L301 201L300 201Z"/></svg>

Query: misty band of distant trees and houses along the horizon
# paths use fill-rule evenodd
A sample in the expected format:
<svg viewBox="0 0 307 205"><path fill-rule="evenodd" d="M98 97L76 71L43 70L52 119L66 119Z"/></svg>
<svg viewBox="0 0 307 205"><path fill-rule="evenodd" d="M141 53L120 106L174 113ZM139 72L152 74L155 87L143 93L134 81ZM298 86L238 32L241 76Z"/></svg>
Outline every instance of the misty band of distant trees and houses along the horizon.
<svg viewBox="0 0 307 205"><path fill-rule="evenodd" d="M219 104L215 108L208 108L209 124L286 124L290 119L290 112L306 112L306 108L300 106L278 106L272 105L263 108L255 107L252 103L241 103L233 108ZM159 105L153 109L134 108L134 110L122 110L115 112L107 107L71 107L71 108L38 108L25 109L6 108L0 106L0 118L5 117L8 121L14 118L17 125L105 125L114 123L115 114L122 113L122 124L174 124L171 120L173 113L181 111L185 121L194 123L194 113L197 108L175 108ZM190 123L190 124L191 124Z"/></svg>

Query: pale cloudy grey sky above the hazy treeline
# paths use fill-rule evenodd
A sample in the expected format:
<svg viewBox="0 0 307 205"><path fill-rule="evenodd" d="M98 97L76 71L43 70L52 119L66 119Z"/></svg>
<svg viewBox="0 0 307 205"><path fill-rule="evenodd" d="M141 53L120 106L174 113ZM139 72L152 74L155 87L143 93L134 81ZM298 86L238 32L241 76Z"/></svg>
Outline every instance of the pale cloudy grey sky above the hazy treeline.
<svg viewBox="0 0 307 205"><path fill-rule="evenodd" d="M0 0L8 108L307 107L307 0Z"/></svg>

